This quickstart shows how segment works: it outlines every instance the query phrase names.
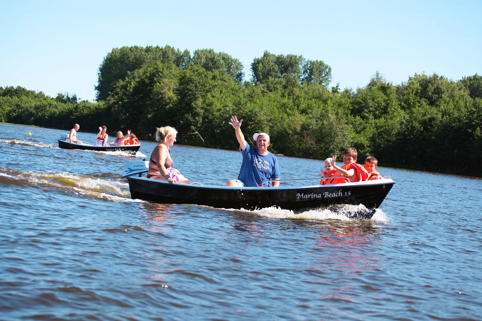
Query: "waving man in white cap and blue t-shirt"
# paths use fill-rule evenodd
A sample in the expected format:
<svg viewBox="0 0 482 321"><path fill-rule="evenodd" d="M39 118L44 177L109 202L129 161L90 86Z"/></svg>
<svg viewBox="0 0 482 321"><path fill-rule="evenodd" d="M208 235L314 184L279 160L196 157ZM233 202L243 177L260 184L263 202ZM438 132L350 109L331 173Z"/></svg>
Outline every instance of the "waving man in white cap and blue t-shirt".
<svg viewBox="0 0 482 321"><path fill-rule="evenodd" d="M238 179L230 179L226 186L234 187L268 187L267 180L279 180L280 170L278 168L278 160L268 152L269 135L266 133L254 134L256 148L251 147L244 139L241 132L241 122L236 116L231 117L230 125L236 132L236 138L240 143L242 153L242 164ZM278 187L280 182L271 182L273 187ZM263 185L262 185L263 184Z"/></svg>

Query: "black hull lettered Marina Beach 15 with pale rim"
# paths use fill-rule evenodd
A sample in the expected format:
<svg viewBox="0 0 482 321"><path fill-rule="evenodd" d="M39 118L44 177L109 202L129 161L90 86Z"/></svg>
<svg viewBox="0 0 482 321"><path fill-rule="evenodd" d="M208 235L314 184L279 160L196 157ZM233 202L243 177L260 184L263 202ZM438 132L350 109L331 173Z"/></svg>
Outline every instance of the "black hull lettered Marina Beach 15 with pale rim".
<svg viewBox="0 0 482 321"><path fill-rule="evenodd" d="M383 179L308 187L218 187L168 184L144 177L129 177L128 181L133 199L246 210L277 206L295 212L341 204L376 209L395 184Z"/></svg>

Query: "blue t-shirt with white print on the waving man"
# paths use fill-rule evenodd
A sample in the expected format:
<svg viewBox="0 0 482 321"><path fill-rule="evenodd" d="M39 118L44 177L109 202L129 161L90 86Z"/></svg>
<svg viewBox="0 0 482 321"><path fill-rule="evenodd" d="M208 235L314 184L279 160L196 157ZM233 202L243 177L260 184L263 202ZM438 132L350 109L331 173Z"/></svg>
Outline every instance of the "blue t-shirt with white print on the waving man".
<svg viewBox="0 0 482 321"><path fill-rule="evenodd" d="M270 152L263 156L246 142L246 148L241 153L242 164L238 179L247 187L258 187L263 181L280 178L278 160ZM269 186L269 183L265 183L264 186Z"/></svg>

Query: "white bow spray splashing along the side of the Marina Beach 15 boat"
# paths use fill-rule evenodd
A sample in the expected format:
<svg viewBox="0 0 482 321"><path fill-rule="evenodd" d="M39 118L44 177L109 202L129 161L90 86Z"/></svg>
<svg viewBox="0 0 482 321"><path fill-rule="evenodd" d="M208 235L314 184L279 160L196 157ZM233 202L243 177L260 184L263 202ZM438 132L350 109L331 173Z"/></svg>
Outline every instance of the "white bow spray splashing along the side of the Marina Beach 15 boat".
<svg viewBox="0 0 482 321"><path fill-rule="evenodd" d="M320 208L316 210L309 210L295 214L290 210L283 210L279 207L268 207L260 210L247 211L255 213L260 216L275 218L275 219L304 219L304 220L341 220L341 221L355 221L360 219L367 219L373 213L371 209L364 205L344 205L330 208ZM388 222L388 217L380 209L376 209L370 221Z"/></svg>

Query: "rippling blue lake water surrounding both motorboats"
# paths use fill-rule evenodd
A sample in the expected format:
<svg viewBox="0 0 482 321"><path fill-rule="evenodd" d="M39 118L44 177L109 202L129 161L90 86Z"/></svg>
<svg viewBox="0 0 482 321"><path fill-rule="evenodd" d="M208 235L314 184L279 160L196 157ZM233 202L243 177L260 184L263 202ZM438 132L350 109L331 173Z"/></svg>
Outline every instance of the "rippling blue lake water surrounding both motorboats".
<svg viewBox="0 0 482 321"><path fill-rule="evenodd" d="M1 320L482 319L481 179L379 167L397 184L371 220L156 204L120 179L154 142L133 157L60 149L65 133L0 124ZM171 153L205 185L241 166ZM323 165L278 161L282 178Z"/></svg>

